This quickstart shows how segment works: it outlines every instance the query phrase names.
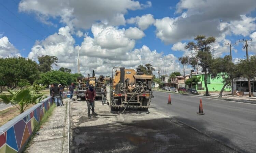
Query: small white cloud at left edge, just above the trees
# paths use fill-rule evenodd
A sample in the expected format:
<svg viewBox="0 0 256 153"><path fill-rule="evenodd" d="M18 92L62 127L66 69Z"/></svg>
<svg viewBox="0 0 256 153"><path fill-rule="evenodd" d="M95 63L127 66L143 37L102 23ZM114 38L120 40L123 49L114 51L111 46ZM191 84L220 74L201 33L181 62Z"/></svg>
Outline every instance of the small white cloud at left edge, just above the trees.
<svg viewBox="0 0 256 153"><path fill-rule="evenodd" d="M0 38L0 58L1 57L21 56L19 51L10 43L8 37Z"/></svg>

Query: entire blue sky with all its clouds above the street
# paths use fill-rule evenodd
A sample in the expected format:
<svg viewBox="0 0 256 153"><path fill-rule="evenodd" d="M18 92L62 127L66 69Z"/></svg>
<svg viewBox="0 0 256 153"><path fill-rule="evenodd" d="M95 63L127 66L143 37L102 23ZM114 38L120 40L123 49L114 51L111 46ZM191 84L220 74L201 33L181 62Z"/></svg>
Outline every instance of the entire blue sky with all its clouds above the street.
<svg viewBox="0 0 256 153"><path fill-rule="evenodd" d="M80 73L110 75L113 67L150 63L179 71L177 60L197 35L216 37L214 57L234 62L256 53L255 0L0 0L0 57L58 57L58 66ZM185 66L186 73L191 67Z"/></svg>

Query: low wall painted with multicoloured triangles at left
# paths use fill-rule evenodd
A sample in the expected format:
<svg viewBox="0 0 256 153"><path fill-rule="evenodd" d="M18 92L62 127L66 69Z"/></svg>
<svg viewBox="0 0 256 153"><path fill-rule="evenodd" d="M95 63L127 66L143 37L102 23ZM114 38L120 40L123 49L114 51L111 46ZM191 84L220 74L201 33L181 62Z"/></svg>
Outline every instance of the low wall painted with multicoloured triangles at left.
<svg viewBox="0 0 256 153"><path fill-rule="evenodd" d="M68 92L63 92L67 98ZM29 108L0 127L0 153L22 152L35 126L39 125L45 112L53 105L52 97Z"/></svg>

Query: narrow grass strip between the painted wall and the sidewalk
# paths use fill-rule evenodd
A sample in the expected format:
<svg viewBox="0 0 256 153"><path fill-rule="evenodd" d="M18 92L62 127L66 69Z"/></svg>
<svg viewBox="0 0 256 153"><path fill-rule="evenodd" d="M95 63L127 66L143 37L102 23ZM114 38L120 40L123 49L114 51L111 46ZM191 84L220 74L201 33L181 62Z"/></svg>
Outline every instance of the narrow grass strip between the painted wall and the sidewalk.
<svg viewBox="0 0 256 153"><path fill-rule="evenodd" d="M32 139L35 137L37 132L40 130L41 125L43 125L45 122L48 121L49 117L53 114L53 110L54 110L55 107L56 107L55 104L53 104L50 107L50 109L47 112L45 112L44 117L42 118L41 122L34 127L34 130L33 130L32 134L31 134L31 136L30 136L30 138L27 142L27 145L25 146L25 148L23 150L23 153L26 153L26 149L29 147L29 144L31 143Z"/></svg>

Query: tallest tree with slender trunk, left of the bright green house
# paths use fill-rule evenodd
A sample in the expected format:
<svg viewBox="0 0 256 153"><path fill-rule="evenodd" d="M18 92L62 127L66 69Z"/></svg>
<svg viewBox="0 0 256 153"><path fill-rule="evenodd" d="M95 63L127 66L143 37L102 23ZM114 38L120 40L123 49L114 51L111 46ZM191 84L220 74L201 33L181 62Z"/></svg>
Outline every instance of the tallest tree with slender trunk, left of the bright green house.
<svg viewBox="0 0 256 153"><path fill-rule="evenodd" d="M189 42L185 49L188 50L197 50L197 54L195 57L190 57L188 59L188 63L193 67L196 68L197 65L201 66L202 72L204 73L204 86L206 89L205 96L210 96L208 87L207 87L207 73L211 72L211 64L213 62L213 57L211 54L211 45L215 43L214 37L205 36L197 36L194 38L196 43Z"/></svg>

